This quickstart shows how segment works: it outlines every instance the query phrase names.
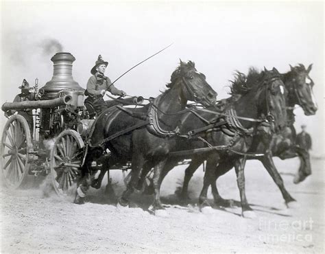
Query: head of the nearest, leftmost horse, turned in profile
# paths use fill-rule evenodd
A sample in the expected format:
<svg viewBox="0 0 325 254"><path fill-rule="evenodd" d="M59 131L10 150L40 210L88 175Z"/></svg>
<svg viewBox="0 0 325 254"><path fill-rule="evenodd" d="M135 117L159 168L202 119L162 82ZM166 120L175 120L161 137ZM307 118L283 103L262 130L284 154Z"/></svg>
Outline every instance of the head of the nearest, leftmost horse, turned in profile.
<svg viewBox="0 0 325 254"><path fill-rule="evenodd" d="M217 92L206 82L206 76L195 69L194 62L182 62L171 74L171 83L167 87L179 84L186 100L200 102L204 106L213 106L217 100Z"/></svg>

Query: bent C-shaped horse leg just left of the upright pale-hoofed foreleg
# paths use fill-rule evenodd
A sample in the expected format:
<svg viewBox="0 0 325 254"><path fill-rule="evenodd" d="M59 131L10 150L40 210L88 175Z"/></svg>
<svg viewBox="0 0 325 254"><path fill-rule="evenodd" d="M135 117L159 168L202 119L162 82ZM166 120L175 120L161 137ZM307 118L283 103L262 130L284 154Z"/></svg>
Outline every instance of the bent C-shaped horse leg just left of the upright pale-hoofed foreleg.
<svg viewBox="0 0 325 254"><path fill-rule="evenodd" d="M213 199L215 200L215 205L219 207L231 207L234 203L234 200L222 198L217 189L217 179L219 176L226 174L226 172L231 170L233 166L234 164L232 162L223 161L217 165L217 168L215 169L215 179L211 183L211 192L213 194Z"/></svg>

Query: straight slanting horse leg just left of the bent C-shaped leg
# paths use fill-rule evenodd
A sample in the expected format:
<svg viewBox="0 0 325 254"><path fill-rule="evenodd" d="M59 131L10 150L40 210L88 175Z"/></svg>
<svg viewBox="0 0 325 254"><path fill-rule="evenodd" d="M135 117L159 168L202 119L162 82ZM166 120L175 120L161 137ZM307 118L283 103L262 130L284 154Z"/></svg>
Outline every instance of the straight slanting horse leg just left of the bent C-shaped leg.
<svg viewBox="0 0 325 254"><path fill-rule="evenodd" d="M215 180L215 167L217 166L218 162L219 162L219 155L213 155L212 157L209 157L206 160L206 172L204 174L203 187L199 198L200 210L206 206L210 207L207 198L208 187Z"/></svg>

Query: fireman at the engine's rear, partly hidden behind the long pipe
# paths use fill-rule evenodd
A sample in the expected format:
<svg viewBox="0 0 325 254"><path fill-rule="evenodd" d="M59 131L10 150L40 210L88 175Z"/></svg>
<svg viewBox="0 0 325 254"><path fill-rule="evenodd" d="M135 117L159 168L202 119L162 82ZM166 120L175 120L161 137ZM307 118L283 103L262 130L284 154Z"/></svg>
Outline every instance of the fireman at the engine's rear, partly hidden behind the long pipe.
<svg viewBox="0 0 325 254"><path fill-rule="evenodd" d="M21 89L21 93L19 95L16 95L14 97L14 102L25 102L25 101L31 101L35 100L35 93L30 92L29 83L27 80L23 80L23 83L21 86L19 86L19 89ZM10 115L14 115L14 113L18 112L18 115L23 116L27 124L29 126L29 130L31 132L31 135L33 134L33 128L34 128L34 120L33 120L33 110L32 108L25 108L25 109L19 109L18 111L5 111L5 117L10 117Z"/></svg>

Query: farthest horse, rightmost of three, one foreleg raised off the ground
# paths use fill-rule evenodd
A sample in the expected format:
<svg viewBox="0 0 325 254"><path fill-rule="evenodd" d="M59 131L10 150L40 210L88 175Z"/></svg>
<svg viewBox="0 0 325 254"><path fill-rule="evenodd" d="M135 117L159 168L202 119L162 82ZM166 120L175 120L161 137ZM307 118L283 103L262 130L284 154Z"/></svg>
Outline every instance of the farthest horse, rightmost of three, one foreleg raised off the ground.
<svg viewBox="0 0 325 254"><path fill-rule="evenodd" d="M290 66L291 67L291 66ZM306 69L304 65L298 65L296 67L291 67L291 71L282 74L280 76L282 82L285 84L285 88L287 93L285 94L286 105L287 105L287 123L285 128L282 128L280 132L275 133L272 137L272 141L270 143L269 152L263 157L250 157L248 159L258 159L260 160L267 172L269 172L270 176L272 176L276 185L280 189L282 193L282 197L285 199L285 203L288 207L293 206L293 203L296 201L292 196L287 192L285 186L283 184L282 178L276 167L274 165L272 156L279 157L280 159L287 159L296 157L297 154L304 161L304 165L300 165L300 169L298 171L298 176L300 180L303 180L308 174L311 173L310 163L309 163L309 154L307 151L304 151L302 148L298 148L296 143L296 130L293 126L294 123L294 115L293 108L295 105L299 105L304 110L305 115L314 115L317 111L317 106L315 104L315 100L313 99L313 80L309 77L309 72L311 71L312 65ZM310 82L307 83L306 80ZM251 146L249 152L250 153L261 153L265 150L263 143L258 140L258 137L254 140L254 146ZM185 170L184 183L182 186L182 191L180 193L180 198L186 201L187 198L187 188L189 185L189 181L191 176L197 168L200 166L202 161L192 161L188 168ZM245 162L243 162L245 163ZM244 165L244 164L243 164ZM216 181L219 176L226 174L230 169L234 167L234 163L232 162L232 158L225 158L224 161L221 161L215 170L215 181L211 185L211 190L213 193L213 197L215 200L215 205L221 207L228 207L233 202L232 200L224 200L219 195L217 190ZM242 172L241 175L241 188L244 188L244 175ZM296 178L295 178L296 179ZM294 180L295 183L298 181ZM245 191L242 191L245 194ZM244 197L243 200L246 200ZM248 205L247 202L241 204L244 207L245 211L252 211L252 208ZM248 214L248 213L246 213Z"/></svg>

